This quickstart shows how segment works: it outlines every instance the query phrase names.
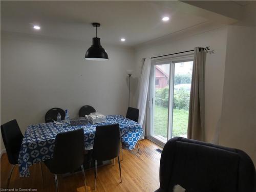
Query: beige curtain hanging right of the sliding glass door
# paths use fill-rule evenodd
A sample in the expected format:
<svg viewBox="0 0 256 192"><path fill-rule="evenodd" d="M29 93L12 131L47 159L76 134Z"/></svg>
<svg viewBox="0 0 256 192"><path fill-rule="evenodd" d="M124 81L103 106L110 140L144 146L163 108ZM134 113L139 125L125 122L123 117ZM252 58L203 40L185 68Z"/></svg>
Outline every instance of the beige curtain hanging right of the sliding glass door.
<svg viewBox="0 0 256 192"><path fill-rule="evenodd" d="M196 47L191 80L187 138L200 141L205 141L204 67L205 52Z"/></svg>

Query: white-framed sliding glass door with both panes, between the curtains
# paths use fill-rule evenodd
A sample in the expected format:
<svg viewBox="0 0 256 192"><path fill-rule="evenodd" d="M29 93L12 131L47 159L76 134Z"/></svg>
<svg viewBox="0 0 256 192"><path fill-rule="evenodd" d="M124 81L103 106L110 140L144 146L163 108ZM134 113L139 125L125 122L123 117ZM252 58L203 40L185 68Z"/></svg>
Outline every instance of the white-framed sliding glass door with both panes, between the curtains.
<svg viewBox="0 0 256 192"><path fill-rule="evenodd" d="M149 95L147 137L164 145L172 137L187 137L193 61L154 61Z"/></svg>

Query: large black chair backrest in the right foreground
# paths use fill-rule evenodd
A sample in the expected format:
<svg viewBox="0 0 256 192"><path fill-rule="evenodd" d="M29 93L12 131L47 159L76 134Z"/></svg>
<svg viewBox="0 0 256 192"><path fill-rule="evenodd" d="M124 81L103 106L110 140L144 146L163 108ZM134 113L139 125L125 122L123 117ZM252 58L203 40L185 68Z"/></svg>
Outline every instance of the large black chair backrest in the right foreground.
<svg viewBox="0 0 256 192"><path fill-rule="evenodd" d="M255 191L255 167L241 150L181 137L165 144L160 161L160 188L176 184L191 191Z"/></svg>

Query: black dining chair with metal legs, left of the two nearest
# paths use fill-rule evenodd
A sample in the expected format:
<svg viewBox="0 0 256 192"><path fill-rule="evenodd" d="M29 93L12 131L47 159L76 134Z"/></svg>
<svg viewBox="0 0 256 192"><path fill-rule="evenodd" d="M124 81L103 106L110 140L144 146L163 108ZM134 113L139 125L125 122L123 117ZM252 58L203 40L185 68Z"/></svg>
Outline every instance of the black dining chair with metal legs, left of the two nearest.
<svg viewBox="0 0 256 192"><path fill-rule="evenodd" d="M84 134L83 129L57 134L53 158L46 160L45 164L54 174L55 187L58 192L57 174L74 172L81 167L84 187L86 188L86 175L83 169ZM87 189L86 189L87 191Z"/></svg>

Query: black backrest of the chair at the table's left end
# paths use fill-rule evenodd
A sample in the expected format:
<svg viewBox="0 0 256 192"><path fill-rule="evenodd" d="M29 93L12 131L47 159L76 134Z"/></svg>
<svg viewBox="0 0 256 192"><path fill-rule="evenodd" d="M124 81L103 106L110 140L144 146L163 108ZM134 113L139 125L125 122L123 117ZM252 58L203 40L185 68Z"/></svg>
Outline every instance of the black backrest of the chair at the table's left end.
<svg viewBox="0 0 256 192"><path fill-rule="evenodd" d="M20 145L22 144L23 140L23 135L19 129L16 119L1 125L1 133L8 160L11 164L15 165L18 163Z"/></svg>

